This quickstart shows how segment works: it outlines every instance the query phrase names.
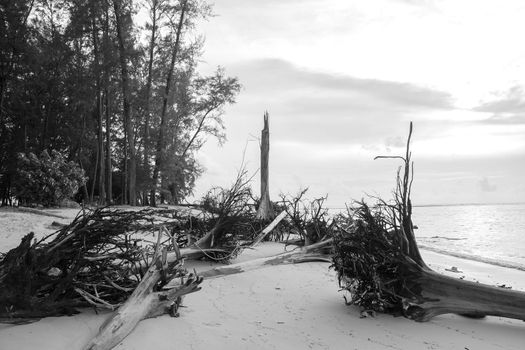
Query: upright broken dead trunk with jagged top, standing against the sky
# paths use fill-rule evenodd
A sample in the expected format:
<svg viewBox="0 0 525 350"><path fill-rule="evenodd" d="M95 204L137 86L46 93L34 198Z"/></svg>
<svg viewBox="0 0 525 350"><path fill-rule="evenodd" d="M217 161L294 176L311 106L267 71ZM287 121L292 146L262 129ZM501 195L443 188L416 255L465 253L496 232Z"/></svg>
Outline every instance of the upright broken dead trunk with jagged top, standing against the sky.
<svg viewBox="0 0 525 350"><path fill-rule="evenodd" d="M261 131L261 202L257 210L257 218L270 220L273 216L272 204L270 203L269 177L269 154L270 154L270 129L268 125L268 112L264 112L264 128Z"/></svg>

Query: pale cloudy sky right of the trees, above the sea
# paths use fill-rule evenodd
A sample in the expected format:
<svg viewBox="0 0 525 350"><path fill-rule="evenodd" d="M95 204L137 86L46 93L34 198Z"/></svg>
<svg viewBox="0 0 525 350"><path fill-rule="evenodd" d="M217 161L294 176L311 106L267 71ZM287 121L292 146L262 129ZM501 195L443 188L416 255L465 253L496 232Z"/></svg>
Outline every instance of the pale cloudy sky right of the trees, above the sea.
<svg viewBox="0 0 525 350"><path fill-rule="evenodd" d="M270 197L328 206L389 198L414 123L415 205L525 202L525 3L215 0L199 69L243 85L208 140L195 197L244 161L259 188L270 115ZM243 160L244 159L244 160Z"/></svg>

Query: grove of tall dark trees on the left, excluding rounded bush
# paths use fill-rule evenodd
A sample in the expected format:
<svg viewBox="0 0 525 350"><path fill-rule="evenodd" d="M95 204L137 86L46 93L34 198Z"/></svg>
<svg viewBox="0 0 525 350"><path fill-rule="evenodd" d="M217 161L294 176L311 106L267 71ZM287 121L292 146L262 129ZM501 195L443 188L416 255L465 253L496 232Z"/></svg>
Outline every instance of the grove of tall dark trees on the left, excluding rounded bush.
<svg viewBox="0 0 525 350"><path fill-rule="evenodd" d="M201 76L204 0L0 0L0 197L20 153L59 152L88 181L79 200L155 205L191 193L195 152L224 141L240 90Z"/></svg>

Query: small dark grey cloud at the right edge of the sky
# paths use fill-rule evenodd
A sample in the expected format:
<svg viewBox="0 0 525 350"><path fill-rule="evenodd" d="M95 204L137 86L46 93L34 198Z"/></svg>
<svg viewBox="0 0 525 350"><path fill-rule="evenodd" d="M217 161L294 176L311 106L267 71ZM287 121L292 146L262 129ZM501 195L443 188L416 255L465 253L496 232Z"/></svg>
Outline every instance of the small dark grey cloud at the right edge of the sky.
<svg viewBox="0 0 525 350"><path fill-rule="evenodd" d="M503 96L474 108L478 112L492 113L483 124L525 125L525 92L521 86L513 86Z"/></svg>

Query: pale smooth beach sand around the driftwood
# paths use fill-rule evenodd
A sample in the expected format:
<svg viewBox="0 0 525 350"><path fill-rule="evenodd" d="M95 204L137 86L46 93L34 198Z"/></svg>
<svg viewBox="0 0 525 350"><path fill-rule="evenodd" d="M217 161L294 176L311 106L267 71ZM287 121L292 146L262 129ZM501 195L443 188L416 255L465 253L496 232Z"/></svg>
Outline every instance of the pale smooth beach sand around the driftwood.
<svg viewBox="0 0 525 350"><path fill-rule="evenodd" d="M35 215L25 215L23 222L46 225ZM58 221L55 219L49 217L50 222ZM0 217L0 225L5 227L5 217ZM21 236L16 226L9 227L13 230L10 233L0 231L1 240ZM7 234L10 238L4 239ZM282 245L266 243L257 250L245 251L238 261L282 249ZM422 253L436 271L525 290L522 271ZM207 269L211 264L196 266ZM269 266L205 280L201 291L186 296L179 318L162 316L142 321L116 349L524 348L525 323L521 321L497 317L473 320L455 315L439 316L427 323L389 315L362 319L357 308L345 306L335 273L328 266ZM445 270L452 266L463 273ZM0 349L80 349L108 315L86 310L80 315L47 318L29 325L0 325Z"/></svg>

